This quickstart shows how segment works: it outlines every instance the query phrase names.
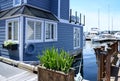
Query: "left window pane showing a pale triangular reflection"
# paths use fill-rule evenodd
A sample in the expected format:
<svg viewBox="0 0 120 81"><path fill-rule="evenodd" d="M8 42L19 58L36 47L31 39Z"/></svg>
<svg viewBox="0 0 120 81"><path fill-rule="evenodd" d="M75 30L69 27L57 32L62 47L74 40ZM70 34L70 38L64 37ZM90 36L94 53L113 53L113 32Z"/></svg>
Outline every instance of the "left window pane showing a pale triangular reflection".
<svg viewBox="0 0 120 81"><path fill-rule="evenodd" d="M27 24L27 39L34 40L34 22L28 21Z"/></svg>

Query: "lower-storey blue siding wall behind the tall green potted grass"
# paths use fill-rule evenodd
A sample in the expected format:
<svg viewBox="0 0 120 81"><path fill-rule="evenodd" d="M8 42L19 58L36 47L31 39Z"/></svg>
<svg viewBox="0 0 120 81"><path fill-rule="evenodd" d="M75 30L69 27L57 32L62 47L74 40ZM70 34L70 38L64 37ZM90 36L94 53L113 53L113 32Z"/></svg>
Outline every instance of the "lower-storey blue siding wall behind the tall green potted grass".
<svg viewBox="0 0 120 81"><path fill-rule="evenodd" d="M42 51L45 50L46 48L50 48L50 47L56 47L58 49L64 49L67 52L73 52L74 47L73 47L73 29L74 27L79 27L80 28L80 48L82 49L82 33L83 33L83 28L81 26L77 26L77 25L72 25L72 24L65 24L65 23L58 23L58 41L54 41L54 42L41 42L41 43L29 43L29 44L33 44L35 46L35 52L33 54L27 54L26 53L26 49L25 46L27 45L24 42L24 61L34 61L34 60L38 60L37 56L38 54L42 55ZM25 28L25 27L24 27ZM24 29L25 30L25 29ZM24 39L25 39L25 35L24 35Z"/></svg>

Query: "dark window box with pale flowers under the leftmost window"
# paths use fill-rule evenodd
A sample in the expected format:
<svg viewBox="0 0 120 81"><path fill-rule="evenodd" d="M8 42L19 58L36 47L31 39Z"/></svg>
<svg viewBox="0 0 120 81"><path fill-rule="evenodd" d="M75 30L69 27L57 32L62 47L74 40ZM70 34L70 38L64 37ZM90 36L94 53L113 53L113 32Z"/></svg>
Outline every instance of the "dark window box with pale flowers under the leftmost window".
<svg viewBox="0 0 120 81"><path fill-rule="evenodd" d="M2 44L2 47L8 50L17 50L18 44L14 41L7 40L7 41L4 41L4 44Z"/></svg>

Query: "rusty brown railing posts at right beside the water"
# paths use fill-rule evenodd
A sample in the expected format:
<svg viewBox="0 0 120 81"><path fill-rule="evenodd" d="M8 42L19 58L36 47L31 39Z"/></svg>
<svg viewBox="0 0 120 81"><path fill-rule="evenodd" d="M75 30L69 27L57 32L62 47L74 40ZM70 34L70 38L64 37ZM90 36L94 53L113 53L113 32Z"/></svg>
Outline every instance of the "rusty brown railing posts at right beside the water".
<svg viewBox="0 0 120 81"><path fill-rule="evenodd" d="M115 64L118 54L118 42L94 48L98 64L98 81L110 81L111 64ZM106 51L105 51L106 50Z"/></svg>

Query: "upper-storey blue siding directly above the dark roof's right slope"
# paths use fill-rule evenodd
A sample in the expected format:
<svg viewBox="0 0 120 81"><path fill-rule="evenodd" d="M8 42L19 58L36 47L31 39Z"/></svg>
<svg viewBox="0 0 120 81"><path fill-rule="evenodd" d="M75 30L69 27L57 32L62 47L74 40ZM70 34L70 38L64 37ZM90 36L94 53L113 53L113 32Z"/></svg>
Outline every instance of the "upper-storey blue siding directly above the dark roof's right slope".
<svg viewBox="0 0 120 81"><path fill-rule="evenodd" d="M51 9L50 5L51 0L27 0L27 4L49 10Z"/></svg>

